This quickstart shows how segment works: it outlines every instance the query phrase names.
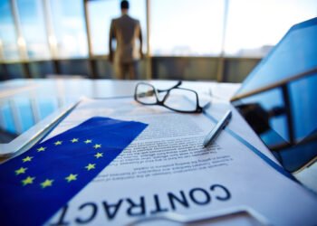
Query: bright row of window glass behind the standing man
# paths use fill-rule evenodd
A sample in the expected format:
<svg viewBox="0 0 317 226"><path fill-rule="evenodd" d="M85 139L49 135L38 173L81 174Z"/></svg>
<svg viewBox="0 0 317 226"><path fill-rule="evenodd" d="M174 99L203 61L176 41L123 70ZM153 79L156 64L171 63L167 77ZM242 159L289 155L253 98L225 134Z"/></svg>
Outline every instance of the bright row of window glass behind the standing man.
<svg viewBox="0 0 317 226"><path fill-rule="evenodd" d="M87 57L85 2L91 52L108 54L110 22L120 16L120 0L0 0L0 59L21 59L24 44L30 59L47 59L51 53L60 58ZM130 0L130 15L141 24L143 52L147 52L146 2ZM23 37L14 27L14 3ZM316 0L150 0L149 7L149 46L154 56L218 56L224 51L226 57L264 57L293 24L317 16ZM45 18L52 27L46 27Z"/></svg>

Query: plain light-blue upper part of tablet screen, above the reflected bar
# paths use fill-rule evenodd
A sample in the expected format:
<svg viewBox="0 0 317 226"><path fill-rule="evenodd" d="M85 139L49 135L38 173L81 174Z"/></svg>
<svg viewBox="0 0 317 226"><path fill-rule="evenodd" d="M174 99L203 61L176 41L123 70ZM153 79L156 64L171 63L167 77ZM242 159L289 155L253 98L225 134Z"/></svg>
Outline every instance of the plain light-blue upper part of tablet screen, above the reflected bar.
<svg viewBox="0 0 317 226"><path fill-rule="evenodd" d="M234 99L269 89L317 68L317 17L294 25L243 81Z"/></svg>

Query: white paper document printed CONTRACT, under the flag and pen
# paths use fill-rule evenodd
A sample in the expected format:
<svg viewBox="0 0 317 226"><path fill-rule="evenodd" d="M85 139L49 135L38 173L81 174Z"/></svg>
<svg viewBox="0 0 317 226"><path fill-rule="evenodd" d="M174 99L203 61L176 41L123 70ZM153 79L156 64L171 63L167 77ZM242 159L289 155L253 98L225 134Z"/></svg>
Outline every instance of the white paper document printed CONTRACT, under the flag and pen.
<svg viewBox="0 0 317 226"><path fill-rule="evenodd" d="M149 126L47 225L126 225L145 219L155 224L159 217L168 225L234 213L247 217L227 222L317 224L316 195L235 137L223 131L204 148L215 126L205 114L181 114L133 99L84 99L49 137L95 116ZM248 126L241 120L239 127Z"/></svg>

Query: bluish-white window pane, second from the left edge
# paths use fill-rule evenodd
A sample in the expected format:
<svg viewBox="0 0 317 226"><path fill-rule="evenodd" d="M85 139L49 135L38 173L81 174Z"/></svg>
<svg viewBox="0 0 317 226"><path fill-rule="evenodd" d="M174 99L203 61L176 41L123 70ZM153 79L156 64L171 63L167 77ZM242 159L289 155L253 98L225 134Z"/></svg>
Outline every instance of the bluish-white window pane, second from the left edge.
<svg viewBox="0 0 317 226"><path fill-rule="evenodd" d="M43 18L43 1L17 0L16 4L29 58L49 58L50 51Z"/></svg>

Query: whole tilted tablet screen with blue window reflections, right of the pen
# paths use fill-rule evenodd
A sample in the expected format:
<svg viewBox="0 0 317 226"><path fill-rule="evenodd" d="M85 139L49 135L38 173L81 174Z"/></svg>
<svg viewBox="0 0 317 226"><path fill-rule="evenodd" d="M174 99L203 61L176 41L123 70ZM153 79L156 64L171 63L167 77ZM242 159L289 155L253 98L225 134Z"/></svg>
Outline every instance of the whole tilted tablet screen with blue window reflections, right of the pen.
<svg viewBox="0 0 317 226"><path fill-rule="evenodd" d="M317 158L316 40L317 18L293 26L232 99L291 173Z"/></svg>

